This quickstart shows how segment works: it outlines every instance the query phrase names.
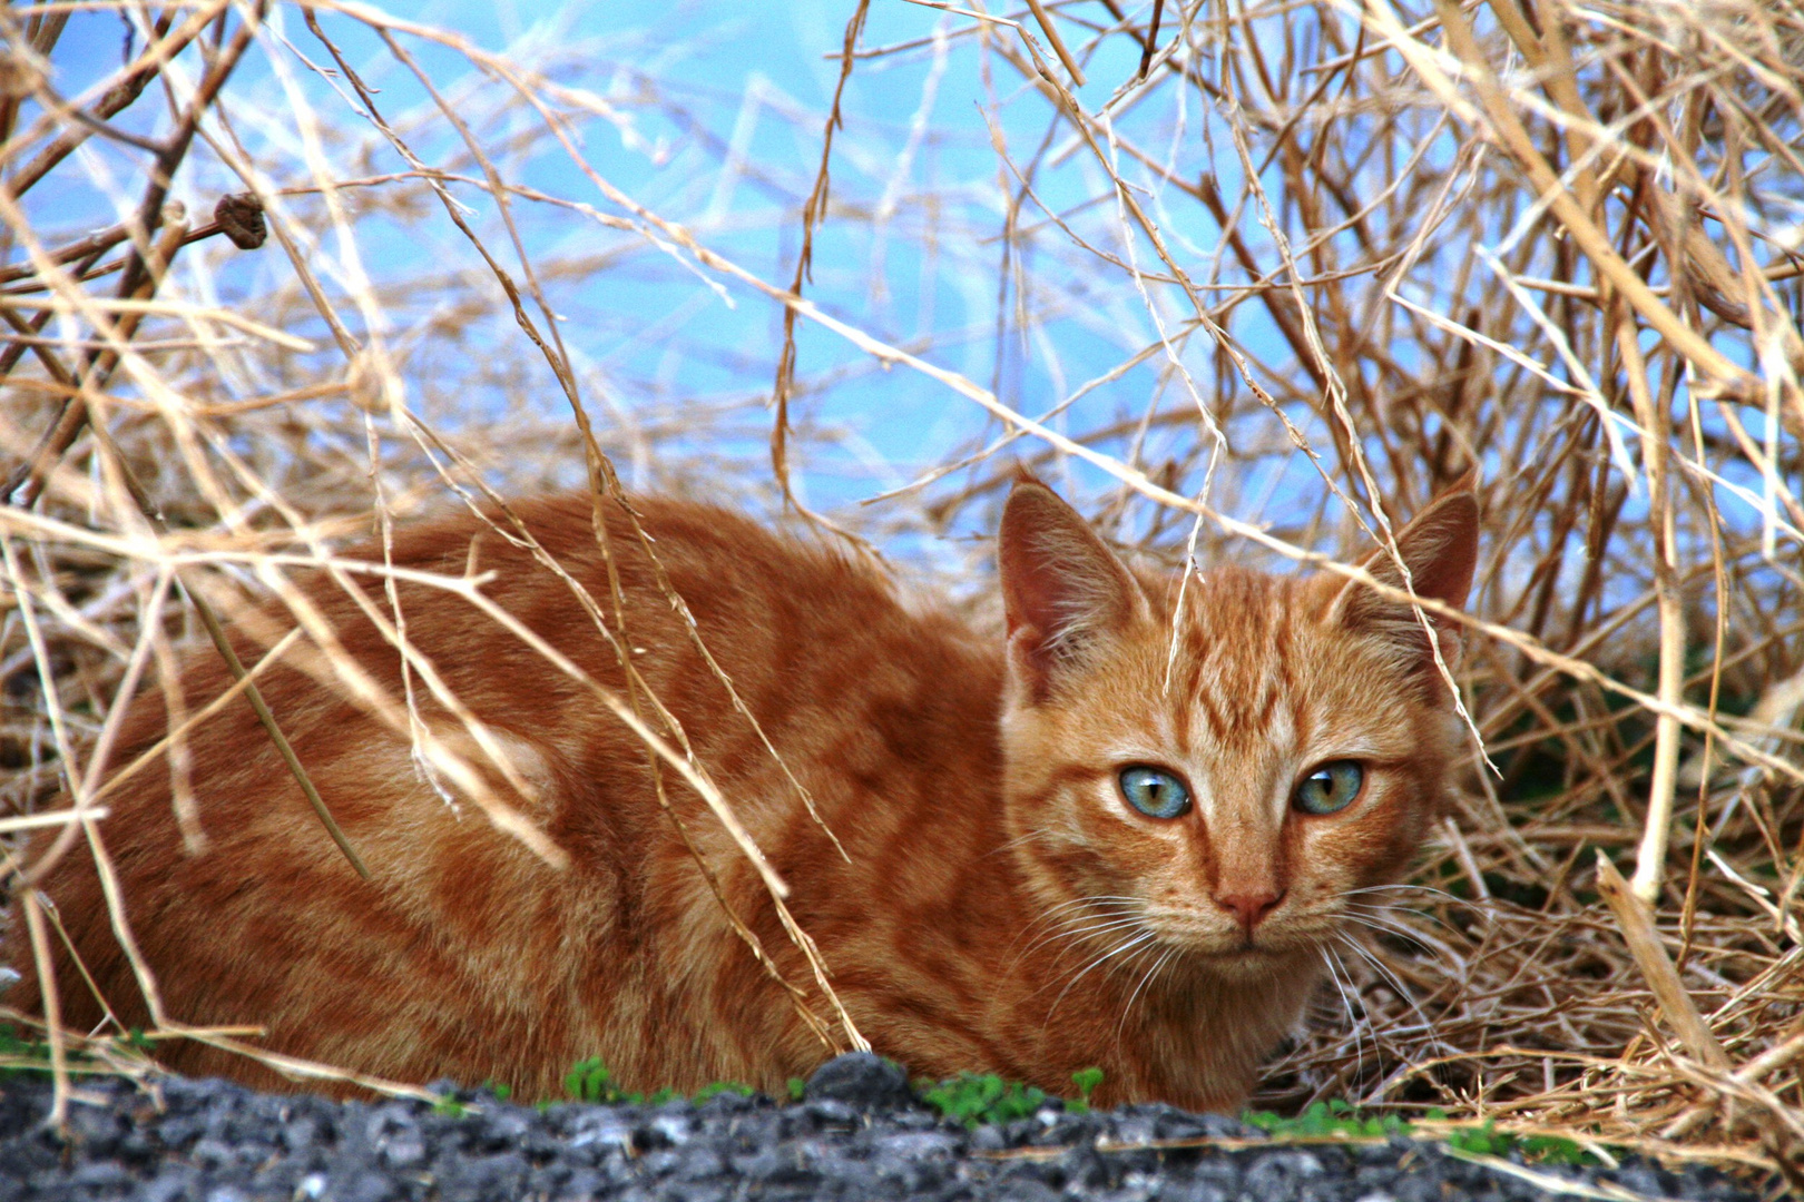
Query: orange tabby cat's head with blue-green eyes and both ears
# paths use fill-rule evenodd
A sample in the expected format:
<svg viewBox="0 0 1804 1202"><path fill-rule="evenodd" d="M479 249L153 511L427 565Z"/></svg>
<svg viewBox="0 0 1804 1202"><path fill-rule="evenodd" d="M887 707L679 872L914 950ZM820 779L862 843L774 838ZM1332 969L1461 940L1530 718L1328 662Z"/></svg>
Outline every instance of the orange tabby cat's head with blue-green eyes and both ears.
<svg viewBox="0 0 1804 1202"><path fill-rule="evenodd" d="M1396 533L1414 593L1452 607L1476 542L1470 488ZM999 559L1008 827L1063 930L1257 970L1313 959L1376 901L1357 890L1405 870L1458 746L1414 607L1328 571L1216 564L1180 587L1030 479ZM1364 566L1402 587L1389 551ZM1431 625L1452 663L1456 631Z"/></svg>

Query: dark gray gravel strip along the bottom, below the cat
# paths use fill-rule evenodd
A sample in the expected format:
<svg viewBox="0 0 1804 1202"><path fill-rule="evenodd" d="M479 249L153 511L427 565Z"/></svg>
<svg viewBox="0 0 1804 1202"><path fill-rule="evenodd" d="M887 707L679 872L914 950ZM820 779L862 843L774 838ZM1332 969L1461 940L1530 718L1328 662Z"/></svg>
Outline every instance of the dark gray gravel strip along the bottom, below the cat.
<svg viewBox="0 0 1804 1202"><path fill-rule="evenodd" d="M254 1094L162 1079L155 1097L85 1081L69 1139L45 1130L49 1081L0 1079L0 1202L727 1202L738 1198L1054 1198L1097 1202L1454 1202L1458 1198L1752 1200L1708 1170L1472 1164L1434 1144L1283 1146L1220 1115L1054 1106L1001 1126L942 1121L877 1058L841 1058L808 1097L693 1105L554 1105L464 1092L438 1114L411 1101ZM1169 1146L1169 1141L1252 1146ZM1167 1146L1153 1146L1165 1141ZM1553 1188L1550 1188L1553 1186Z"/></svg>

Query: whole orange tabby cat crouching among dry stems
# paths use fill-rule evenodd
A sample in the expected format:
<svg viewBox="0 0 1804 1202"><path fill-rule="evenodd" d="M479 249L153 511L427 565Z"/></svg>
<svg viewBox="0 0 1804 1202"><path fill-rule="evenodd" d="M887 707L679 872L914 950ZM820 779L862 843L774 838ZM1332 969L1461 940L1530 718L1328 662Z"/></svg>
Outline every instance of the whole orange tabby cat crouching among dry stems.
<svg viewBox="0 0 1804 1202"><path fill-rule="evenodd" d="M590 499L516 512L612 622ZM1348 926L1349 892L1394 881L1443 802L1454 741L1429 636L1416 611L1340 577L1214 566L1174 613L1174 577L1124 566L1023 481L999 535L1003 642L743 517L657 499L639 512L700 638L610 503L633 663L790 885L859 1031L915 1074L992 1070L1070 1092L1073 1070L1099 1065L1106 1103L1238 1105ZM1398 535L1418 595L1465 600L1476 524L1472 492L1456 490ZM393 562L492 573L489 598L626 696L610 642L516 541L462 515L402 530ZM1389 557L1369 568L1400 580ZM343 649L402 696L384 634L337 586L308 589ZM186 849L161 760L108 797L101 824L170 1018L256 1024L281 1052L397 1079L492 1079L523 1097L557 1096L584 1056L630 1087L680 1090L738 1079L776 1092L819 1065L830 1049L723 915L660 809L642 741L467 598L402 582L399 602L408 636L527 786L491 773L496 788L568 867L447 791L404 733L283 661L263 694L372 879L328 842L251 708L226 705L189 737L206 851ZM235 638L249 663L267 647L247 625ZM455 737L460 719L413 678L424 724ZM227 683L213 651L197 652L189 712ZM166 723L157 696L133 703L114 762ZM722 822L675 771L662 780L723 897L812 989ZM87 849L41 890L112 1013L143 1024ZM101 1024L56 946L65 1022ZM9 959L31 962L22 932ZM40 1006L29 970L7 1000ZM193 1074L292 1087L209 1047L161 1051Z"/></svg>

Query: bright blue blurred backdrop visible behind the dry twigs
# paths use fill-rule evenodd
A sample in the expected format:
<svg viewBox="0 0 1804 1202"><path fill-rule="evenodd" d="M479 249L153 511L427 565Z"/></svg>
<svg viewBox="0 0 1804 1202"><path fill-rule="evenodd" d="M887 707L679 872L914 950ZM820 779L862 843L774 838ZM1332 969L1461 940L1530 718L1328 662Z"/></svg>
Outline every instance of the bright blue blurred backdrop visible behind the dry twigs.
<svg viewBox="0 0 1804 1202"><path fill-rule="evenodd" d="M799 207L814 180L823 119L839 77L839 61L830 54L841 47L851 4L440 2L391 4L388 11L532 65L556 85L604 97L617 123L586 117L570 126L586 166L633 204L680 222L763 279L788 283ZM78 22L85 27L72 25L58 52L65 94L79 92L115 65L121 52L117 18L81 14ZM348 61L377 88L382 115L404 132L424 162L474 173L455 130L366 29L334 14L325 14L323 23ZM934 47L924 45L862 59L851 76L842 106L846 121L832 160L839 207L817 234L806 287L810 299L877 337L994 387L1023 413L1037 414L1070 402L1057 418L1063 429L1120 427L1122 433L1100 440L1113 452L1137 454L1147 463L1194 460L1205 436L1200 422L1135 440L1133 423L1149 407L1189 404L1171 373L1162 371L1162 355L1124 366L1158 341L1149 303L1162 310L1171 328L1182 324L1183 314L1156 287L1140 296L1118 267L1099 258L1099 252L1133 254L1153 263L1144 238L1128 245L1106 177L1082 148L1055 150L1034 173L1035 196L1021 209L1028 232L1017 236L1005 263L1005 198L1019 184L998 157L992 137L1007 144L1016 166L1028 162L1052 128L1050 103L994 56L985 61L978 40L969 36L972 22L963 16L904 0L875 0L862 45L924 41L936 31L947 36L943 58L936 59ZM1081 29L1068 25L1066 31L1073 45L1082 41ZM478 139L494 150L511 182L621 216L621 205L601 195L505 87L478 81L455 49L411 36L399 41L453 97ZM336 178L406 168L355 114L343 85L301 61L305 56L316 67L330 65L299 13L278 7L272 36L247 58L231 85L231 112L238 114L235 132L272 186L305 186L310 173L294 96L281 90L271 56L281 61L319 121L337 130L327 146ZM1102 54L1086 59L1090 83L1079 97L1095 108L1137 67L1126 40L1109 40ZM1178 106L1167 103L1174 92L1129 112L1120 121L1122 132L1169 155L1182 173L1214 171L1223 191L1232 195L1238 173L1232 150L1218 144L1205 151L1200 139L1205 114L1194 96L1176 97ZM166 114L159 117L159 108L148 105L130 115L144 123L146 132L157 128L159 119L166 121ZM534 128L539 133L530 146L507 151L512 137ZM1054 146L1064 139L1068 130L1055 128ZM112 178L106 178L108 162L105 151L94 153L92 191L58 196L60 214L81 213L79 222L94 222L101 216L97 209L117 211L132 204L137 191L126 159L114 164ZM1185 263L1203 263L1214 254L1220 236L1192 200L1167 195L1153 173L1131 160L1124 160L1122 173L1144 186L1144 202ZM220 191L236 186L216 162L197 155L184 169L179 195L204 211ZM399 216L359 222L350 256L357 260L355 269L395 285L433 274L456 276L435 288L397 287L388 297L390 335L408 344L422 393L451 387L447 377L473 350L521 353L523 339L485 279L480 258L429 193L419 184L388 187L411 187L415 204ZM451 189L467 205L471 223L518 276L520 265L492 200L474 186ZM318 234L308 252L321 276L348 279L354 267L343 243L325 231L318 209L307 209L305 200L294 204L301 232ZM1073 234L1052 227L1041 205L1066 214L1073 234L1093 249L1077 247ZM590 270L550 272L545 285L552 306L566 319L559 328L590 405L626 414L673 407L693 414L702 405L718 423L700 427L696 442L709 445L698 452L738 472L763 470L769 416L759 416L758 402L769 395L776 373L781 308L732 281L716 279L722 288L716 294L695 270L644 240L570 209L516 202L514 214L534 263L579 263L584 256L599 256ZM1256 222L1248 220L1247 227L1259 236ZM211 276L206 281L197 276L195 283L213 288L220 299L247 303L292 288L292 272L276 256L204 261ZM458 290L465 297L487 296L489 310L480 323L451 337L433 321L435 312L456 303ZM305 317L298 319L305 323ZM299 332L318 341L325 335L318 323ZM1261 353L1272 351L1270 332L1257 321L1238 319L1236 337ZM1192 342L1185 359L1207 387L1216 382L1216 369L1207 346L1198 346ZM805 391L794 407L801 427L794 469L814 505L846 510L999 433L994 420L945 386L907 369L880 369L833 333L805 324L797 348ZM550 409L561 404L548 369L534 368L529 353L521 353L520 364L525 375L518 380L460 380L451 387L473 422L518 404L516 393L523 391L543 398ZM1072 400L1086 380L1111 371L1118 377ZM226 377L231 387L245 393L267 386L249 364L244 378ZM608 423L601 425L606 431ZM989 470L994 469L954 476L943 488ZM1104 483L1095 472L1072 472L1064 478L1066 487ZM1194 488L1198 479L1182 483ZM1252 492L1266 492L1270 481L1245 483Z"/></svg>

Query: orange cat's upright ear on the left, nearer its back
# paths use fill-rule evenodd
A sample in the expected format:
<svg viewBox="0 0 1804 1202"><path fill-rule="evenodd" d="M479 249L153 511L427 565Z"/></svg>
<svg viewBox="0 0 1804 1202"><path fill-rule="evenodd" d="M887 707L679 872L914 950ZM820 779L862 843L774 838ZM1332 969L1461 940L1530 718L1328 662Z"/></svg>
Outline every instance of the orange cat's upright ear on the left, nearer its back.
<svg viewBox="0 0 1804 1202"><path fill-rule="evenodd" d="M1095 530L1035 479L1016 481L998 535L1008 667L1035 701L1099 642L1147 615L1146 595Z"/></svg>

